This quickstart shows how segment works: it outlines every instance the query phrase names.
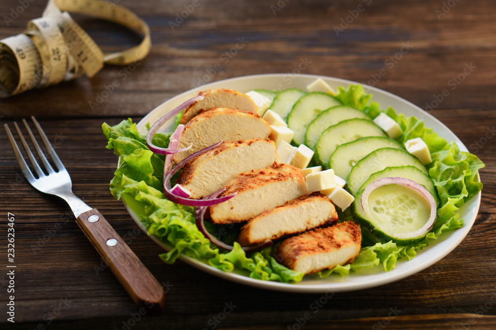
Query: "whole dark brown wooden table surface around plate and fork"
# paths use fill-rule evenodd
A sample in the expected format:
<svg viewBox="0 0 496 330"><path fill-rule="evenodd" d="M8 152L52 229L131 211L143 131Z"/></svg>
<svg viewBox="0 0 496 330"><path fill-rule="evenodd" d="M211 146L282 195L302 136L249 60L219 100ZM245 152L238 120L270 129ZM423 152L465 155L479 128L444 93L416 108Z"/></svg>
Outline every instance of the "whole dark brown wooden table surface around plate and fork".
<svg viewBox="0 0 496 330"><path fill-rule="evenodd" d="M0 16L10 17L21 2L1 1ZM23 31L46 5L45 0L24 2L29 5L8 26L0 22L0 38ZM170 22L186 10L185 5L191 8L191 0L114 2L150 25L153 48L147 59L125 78L121 70L126 66L107 65L91 79L1 99L1 123L37 116L72 177L74 192L98 208L158 281L167 285L167 310L159 316L139 314L67 206L24 181L2 129L1 329L298 330L308 312L311 319L305 321L305 329L496 329L493 1L200 0L174 31ZM139 41L114 24L77 17L104 50L124 49ZM346 20L349 23L343 23ZM343 30L336 33L335 26L340 25ZM226 61L222 55L238 39L245 45ZM404 45L410 50L393 60ZM309 308L322 294L256 289L207 275L181 261L164 264L158 258L161 248L137 230L123 203L110 194L117 158L105 149L101 131L103 122L139 120L202 81L292 72L302 58L311 62L304 73L373 83L424 109L432 104L430 113L486 164L480 171L484 189L479 215L453 252L404 280L336 293L318 313ZM452 78L467 66L472 71L466 71L469 74L452 89ZM374 77L379 81L371 81ZM114 79L120 85L92 109L89 102ZM433 102L444 89L449 95ZM6 321L7 212L15 215L15 324ZM226 304L236 307L224 318Z"/></svg>

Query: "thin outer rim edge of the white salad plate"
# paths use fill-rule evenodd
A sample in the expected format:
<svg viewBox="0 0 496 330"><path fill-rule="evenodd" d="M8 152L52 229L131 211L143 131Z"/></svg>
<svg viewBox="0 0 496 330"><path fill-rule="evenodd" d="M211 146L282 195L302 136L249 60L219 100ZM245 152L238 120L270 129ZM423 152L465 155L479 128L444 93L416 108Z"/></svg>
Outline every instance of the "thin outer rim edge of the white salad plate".
<svg viewBox="0 0 496 330"><path fill-rule="evenodd" d="M241 81L241 80L245 80L245 79L263 79L263 78L267 78L267 77L283 78L283 77L287 77L287 76L288 76L288 73L268 73L268 74L248 75L248 76L228 78L228 79L224 79L224 80L211 82L211 83L208 83L208 84L205 84L202 86L198 86L198 87L195 87L195 88L190 89L188 91L185 91L181 94L178 94L178 95L176 95L176 96L174 96L168 100L165 100L164 102L162 102L161 104L156 106L153 110L149 111L136 125L138 127L138 130L140 130L140 128L144 128L145 124L149 121L149 118L153 116L153 113L155 113L156 111L160 111L161 108L164 107L164 105L170 104L170 103L174 104L174 102L176 102L177 105L179 105L180 103L178 102L178 100L183 99L186 95L195 94L195 93L199 92L200 90L212 88L212 86L215 86L215 85L228 84L230 82ZM415 108L417 111L421 111L421 112L425 111L424 109L420 108L416 104L414 104L414 103L412 103L412 102L410 102L410 101L408 101L408 100L406 100L406 99L404 99L398 95L392 94L390 92L387 92L387 91L384 91L384 90L381 90L381 89L378 89L376 87L369 86L369 85L366 85L363 83L359 83L359 82L355 82L355 81L351 81L351 80L346 80L346 79L341 79L341 78L336 78L336 77L328 77L328 76L322 76L322 75L311 75L311 74L298 74L297 78L294 78L294 79L296 80L300 77L312 78L312 79L322 78L322 79L324 79L324 81L325 80L328 80L328 81L331 80L331 81L336 82L338 84L344 85L344 87L351 85L351 84L363 85L364 87L367 87L367 89L369 89L369 90L376 91L379 94L384 94L388 97L395 98L396 100L398 100L400 102L407 103L410 106L412 106L413 108ZM342 86L342 85L339 85L339 86ZM288 88L290 88L290 87L288 87ZM370 91L367 91L367 92L370 93ZM171 106L169 108L172 109L173 106ZM397 110L397 111L400 112L399 110ZM427 112L427 111L425 111L425 112ZM443 129L448 131L454 137L454 141L456 142L456 144L458 145L458 147L460 148L461 151L468 151L468 149L464 145L464 143L444 123L442 123L440 120L435 118L429 112L427 112L425 115L430 120L433 120L434 122L436 122L437 125L442 126ZM477 178L480 180L479 174L478 174ZM139 220L139 216L131 209L131 207L128 205L128 203L125 202L125 199L127 199L127 198L130 198L130 196L127 196L124 194L123 198L122 198L123 203L124 203L124 206L125 206L127 212L129 213L129 215L133 219L133 221L138 225L138 227L148 237L150 237L155 243L157 243L159 246L161 246L164 250L168 251L168 249L171 248L170 246L167 246L166 244L162 243L155 236L148 235L145 226ZM203 271L203 272L208 273L210 275L222 278L224 280L248 285L251 287L263 288L263 289L274 290L274 291L293 292L293 293L325 293L325 292L347 292L347 291L356 291L356 290L372 288L372 287L376 287L376 286L380 286L380 285L384 285L384 284L388 284L388 283L393 283L393 282L402 280L404 278L407 278L409 276L412 276L414 274L417 274L417 273L431 267L436 262L438 262L439 260L444 258L446 255L451 253L460 244L460 242L463 239L465 239L465 237L470 232L472 226L474 225L475 220L477 218L477 215L479 214L479 209L480 209L480 204L481 204L481 199L482 199L482 192L479 191L477 193L477 195L473 196L469 202L473 203L474 202L473 199L476 199L475 200L476 205L475 205L475 207L473 207L474 214L471 216L471 218L468 221L467 221L467 219L465 219L463 227L454 230L454 231L462 230L462 234L460 234L459 237L457 237L457 239L454 242L451 242L450 246L447 249L444 249L441 253L435 254L433 257L428 259L427 262L421 263L420 265L417 265L414 268L410 268L410 269L406 269L406 270L402 270L400 268L399 274L398 274L397 268L394 268L393 270L391 270L389 272L385 272L383 269L380 268L380 266L377 266L379 268L379 270L377 272L375 272L377 274L373 274L373 275L384 275L382 279L372 278L370 281L363 281L362 280L362 283L358 283L358 284L354 284L354 285L340 285L340 283L347 283L347 282L340 282L340 281L329 282L329 281L326 281L330 278L333 278L332 276L328 277L326 279L321 279L322 283L318 283L318 284L305 284L304 283L305 279L299 283L280 283L280 282L273 282L273 281L262 281L262 280L252 279L252 278L249 278L248 276L244 276L244 275L223 272L223 271L218 270L217 268L212 267L212 266L210 266L210 265L208 265L208 264L206 264L200 260L194 259L192 257L188 257L184 254L180 254L179 259L181 259L182 261L184 261L188 265L199 269L200 271ZM468 202L466 204L468 204ZM462 208L464 206L462 206ZM458 210L457 212L460 212L460 210ZM451 231L450 234L455 233L454 231ZM451 236L451 235L449 235L449 236ZM444 239L446 237L448 237L448 236L441 238L441 240L435 240L432 244L430 244L426 248L419 250L418 254L421 254L423 251L426 251L432 247L437 246L439 242L442 243L442 241L444 241ZM419 256L417 255L416 258L418 258L418 257ZM416 258L414 258L412 260L415 260ZM401 264L405 263L405 262L411 262L411 261L400 260L397 263L397 267L400 266ZM354 273L354 274L359 274L359 273ZM340 278L334 277L334 278L339 280L339 279L349 278L350 276L351 275L349 275L348 277L344 277L344 278L341 278L341 277ZM359 274L358 276L355 276L355 277L364 278L365 276L360 276L360 274Z"/></svg>

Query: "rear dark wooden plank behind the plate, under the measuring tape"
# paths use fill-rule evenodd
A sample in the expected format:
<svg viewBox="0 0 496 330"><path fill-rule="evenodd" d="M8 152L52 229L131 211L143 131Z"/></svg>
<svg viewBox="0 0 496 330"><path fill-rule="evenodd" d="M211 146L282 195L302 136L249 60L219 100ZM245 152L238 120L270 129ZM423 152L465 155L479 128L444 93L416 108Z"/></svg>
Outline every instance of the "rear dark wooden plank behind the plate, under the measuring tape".
<svg viewBox="0 0 496 330"><path fill-rule="evenodd" d="M333 27L363 1L313 1L312 5L288 2L276 15L268 3L237 4L227 14L222 2L209 1L172 31L168 22L176 19L176 13L184 10L187 2L169 7L153 6L152 1L139 6L121 1L151 25L154 47L148 59L130 75L121 71L125 67L106 66L92 79L81 78L33 91L29 97L36 100L36 108L43 116L58 117L144 115L164 100L196 87L206 70L217 63L222 70L212 81L291 72L302 57L312 63L305 73L361 83L368 83L371 75L376 76L384 68L387 74L374 85L421 107L431 103L434 94L450 88L448 81L460 74L466 63L473 63L476 69L437 108L492 108L492 102L483 95L491 94L494 88L492 68L496 55L492 41L496 27L486 1L457 3L440 20L435 10L442 3L424 0L411 8L374 1L339 36ZM16 3L5 1L1 12L8 12ZM34 4L30 6L9 28L0 29L0 37L21 32L29 19L39 15L41 7L39 3L36 8ZM216 17L215 21L211 17ZM96 30L93 20L83 23ZM109 34L117 37L112 45L128 46L133 40L129 35L112 34L116 28L108 30L108 34L93 34L99 44L108 43ZM220 56L236 45L237 38L245 38L248 43L225 63ZM407 42L411 51L396 64L385 64ZM95 101L114 79L120 81L120 86L92 109L89 102ZM2 113L17 117L31 114L35 110L32 106L19 107L24 100L22 95L0 100Z"/></svg>

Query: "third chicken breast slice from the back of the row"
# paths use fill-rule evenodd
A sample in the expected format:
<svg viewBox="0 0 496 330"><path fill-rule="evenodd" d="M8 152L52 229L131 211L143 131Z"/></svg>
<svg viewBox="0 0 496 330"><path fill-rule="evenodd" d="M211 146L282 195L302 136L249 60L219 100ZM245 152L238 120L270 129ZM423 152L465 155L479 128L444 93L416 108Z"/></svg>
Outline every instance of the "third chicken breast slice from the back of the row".
<svg viewBox="0 0 496 330"><path fill-rule="evenodd" d="M223 142L187 163L177 183L191 191L192 198L202 198L242 172L266 168L278 161L272 140Z"/></svg>

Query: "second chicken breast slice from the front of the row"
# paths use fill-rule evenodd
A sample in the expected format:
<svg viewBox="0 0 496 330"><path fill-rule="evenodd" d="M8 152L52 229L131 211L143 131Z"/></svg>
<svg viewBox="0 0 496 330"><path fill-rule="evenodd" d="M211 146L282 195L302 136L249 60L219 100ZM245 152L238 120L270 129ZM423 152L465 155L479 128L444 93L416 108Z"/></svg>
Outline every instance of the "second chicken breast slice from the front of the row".
<svg viewBox="0 0 496 330"><path fill-rule="evenodd" d="M243 246L298 234L338 220L336 208L320 192L300 196L254 217L241 229Z"/></svg>

